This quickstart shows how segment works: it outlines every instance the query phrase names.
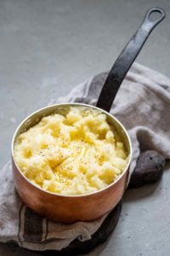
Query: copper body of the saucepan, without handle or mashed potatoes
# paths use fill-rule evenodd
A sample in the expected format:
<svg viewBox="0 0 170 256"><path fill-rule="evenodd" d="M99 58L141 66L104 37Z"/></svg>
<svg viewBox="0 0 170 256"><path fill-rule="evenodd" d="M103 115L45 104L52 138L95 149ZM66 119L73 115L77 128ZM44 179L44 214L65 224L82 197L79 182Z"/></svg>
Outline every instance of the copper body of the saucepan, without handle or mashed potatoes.
<svg viewBox="0 0 170 256"><path fill-rule="evenodd" d="M56 104L42 108L28 116L18 127L14 134L12 143L12 162L14 172L15 187L20 195L20 198L35 212L47 217L53 218L61 222L75 222L78 220L91 220L99 218L105 212L109 212L115 207L117 202L121 200L124 190L127 185L128 166L132 157L132 147L127 131L122 124L110 113L101 110L106 114L108 122L116 128L117 133L122 137L122 141L127 148L129 155L127 166L122 172L122 175L105 189L101 189L95 193L88 195L59 195L43 189L39 189L33 185L20 172L20 167L17 166L14 160L14 143L16 138L23 131L28 130L32 125L35 125L43 116L51 113L59 113L60 109L68 108L69 106L84 106L86 108L96 108L81 103Z"/></svg>

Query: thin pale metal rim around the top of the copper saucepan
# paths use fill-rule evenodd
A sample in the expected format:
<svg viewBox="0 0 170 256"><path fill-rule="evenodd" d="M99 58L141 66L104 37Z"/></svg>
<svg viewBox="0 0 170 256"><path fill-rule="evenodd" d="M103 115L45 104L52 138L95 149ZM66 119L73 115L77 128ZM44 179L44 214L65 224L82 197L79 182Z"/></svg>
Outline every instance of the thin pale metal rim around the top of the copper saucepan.
<svg viewBox="0 0 170 256"><path fill-rule="evenodd" d="M70 105L70 106L82 106L82 107L85 107L85 108L94 108L94 109L97 109L98 111L102 112L102 113L105 113L106 116L110 116L111 119L114 119L116 121L116 123L118 123L118 125L121 126L122 130L124 131L124 133L126 134L126 137L127 137L127 142L129 144L129 154L128 154L128 161L127 161L127 165L126 167L124 168L124 171L116 178L116 180L107 185L105 188L103 189L99 189L95 192L90 192L90 193L86 193L86 194L80 194L80 195L62 195L62 194L59 194L59 193L54 193L54 192L50 192L48 190L45 190L45 189L42 189L40 187L38 187L37 185L35 185L34 183L31 183L31 181L23 174L23 172L20 171L20 167L17 165L16 161L14 160L14 141L16 139L16 134L17 132L20 130L20 127L22 125L25 124L25 122L28 120L28 119L31 119L32 115L34 115L35 113L38 113L38 112L41 112L47 108L54 108L54 107L62 107L62 106L66 106L66 105ZM17 171L20 172L20 175L22 177L24 177L24 179L26 180L27 183L30 183L31 186L33 186L35 189L39 189L41 192L44 192L44 193L48 193L49 195L56 195L56 196L59 196L59 197L69 197L69 198L82 198L82 197L87 197L87 196L90 196L90 195L97 195L99 193L101 193L102 191L105 191L107 189L110 189L112 186L114 186L116 183L119 182L119 180L124 176L124 174L128 171L128 168L129 168L129 165L130 165L130 162L132 160L132 143L131 143L131 140L130 140L130 137L127 133L127 130L126 128L122 125L122 123L116 119L115 116L113 116L111 113L108 113L107 111L105 111L104 109L102 108L98 108L98 107L95 107L93 105L89 105L89 104L85 104L85 103L79 103L79 102L62 102L62 103L56 103L56 104L51 104L51 105L48 105L46 107L43 107L43 108L39 108L37 109L36 111L34 111L33 113L29 114L25 119L23 119L20 123L20 125L18 125L18 127L16 128L16 130L14 131L14 136L12 138L12 143L11 143L11 155L12 155L12 159L14 161L14 165L16 166L17 168Z"/></svg>

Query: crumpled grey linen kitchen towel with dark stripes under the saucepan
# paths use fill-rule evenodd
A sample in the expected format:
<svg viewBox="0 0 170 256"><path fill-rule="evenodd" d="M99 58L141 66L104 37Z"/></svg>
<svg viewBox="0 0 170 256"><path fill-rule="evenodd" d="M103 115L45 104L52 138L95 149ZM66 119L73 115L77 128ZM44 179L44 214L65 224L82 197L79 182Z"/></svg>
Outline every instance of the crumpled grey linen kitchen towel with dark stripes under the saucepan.
<svg viewBox="0 0 170 256"><path fill-rule="evenodd" d="M95 104L107 73L99 73L56 102ZM170 79L148 67L133 64L122 83L111 113L127 128L133 144L130 173L141 150L155 149L170 158ZM14 241L31 250L60 250L78 238L91 238L105 216L91 222L60 224L27 208L14 189L11 164L0 171L0 241Z"/></svg>

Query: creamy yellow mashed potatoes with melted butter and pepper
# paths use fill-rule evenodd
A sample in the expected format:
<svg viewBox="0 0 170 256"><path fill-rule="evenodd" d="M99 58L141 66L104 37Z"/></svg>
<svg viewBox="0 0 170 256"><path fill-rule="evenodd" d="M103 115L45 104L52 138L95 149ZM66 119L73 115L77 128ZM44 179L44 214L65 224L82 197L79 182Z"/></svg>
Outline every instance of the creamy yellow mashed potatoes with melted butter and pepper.
<svg viewBox="0 0 170 256"><path fill-rule="evenodd" d="M124 145L105 113L72 107L43 117L14 144L14 160L38 187L62 195L105 188L127 165Z"/></svg>

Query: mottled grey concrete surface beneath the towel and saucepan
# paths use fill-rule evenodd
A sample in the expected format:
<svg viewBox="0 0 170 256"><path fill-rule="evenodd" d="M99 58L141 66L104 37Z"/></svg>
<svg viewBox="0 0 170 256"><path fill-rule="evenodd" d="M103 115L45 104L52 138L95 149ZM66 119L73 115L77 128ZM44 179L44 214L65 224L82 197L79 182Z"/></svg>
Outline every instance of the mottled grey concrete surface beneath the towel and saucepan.
<svg viewBox="0 0 170 256"><path fill-rule="evenodd" d="M109 69L154 6L165 9L167 18L138 61L168 76L169 0L0 0L0 168L20 121ZM169 169L158 185L127 191L116 231L95 255L170 255ZM23 254L36 255L0 245L0 255Z"/></svg>

